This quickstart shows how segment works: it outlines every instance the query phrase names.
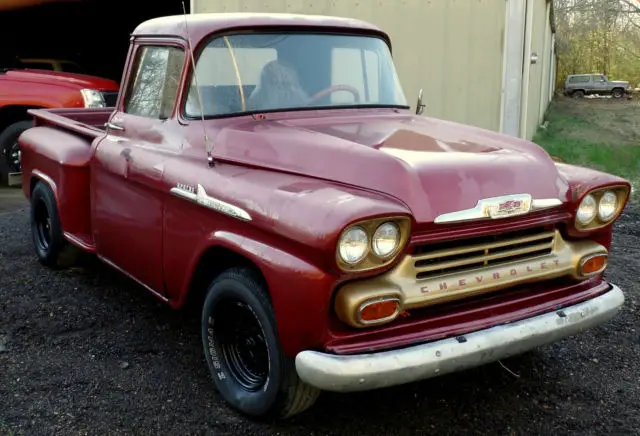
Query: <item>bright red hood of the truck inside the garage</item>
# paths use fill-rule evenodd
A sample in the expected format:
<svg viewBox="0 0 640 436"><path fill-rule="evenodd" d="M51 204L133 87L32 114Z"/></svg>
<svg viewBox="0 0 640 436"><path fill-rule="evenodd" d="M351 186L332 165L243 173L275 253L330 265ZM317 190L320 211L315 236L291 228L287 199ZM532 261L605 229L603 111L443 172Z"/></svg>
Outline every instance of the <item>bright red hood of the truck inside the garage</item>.
<svg viewBox="0 0 640 436"><path fill-rule="evenodd" d="M20 69L9 70L4 75L9 80L29 83L43 83L71 88L89 88L98 91L117 91L118 84L110 79L86 74L63 73L57 71Z"/></svg>

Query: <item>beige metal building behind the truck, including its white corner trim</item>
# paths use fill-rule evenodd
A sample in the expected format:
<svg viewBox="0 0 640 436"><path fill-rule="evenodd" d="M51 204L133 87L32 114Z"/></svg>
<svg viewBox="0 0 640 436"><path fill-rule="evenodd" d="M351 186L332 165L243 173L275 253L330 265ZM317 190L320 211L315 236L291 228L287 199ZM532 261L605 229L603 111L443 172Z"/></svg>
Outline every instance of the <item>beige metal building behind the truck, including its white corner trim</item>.
<svg viewBox="0 0 640 436"><path fill-rule="evenodd" d="M551 0L191 0L192 13L352 17L389 33L407 99L424 114L531 139L554 92Z"/></svg>

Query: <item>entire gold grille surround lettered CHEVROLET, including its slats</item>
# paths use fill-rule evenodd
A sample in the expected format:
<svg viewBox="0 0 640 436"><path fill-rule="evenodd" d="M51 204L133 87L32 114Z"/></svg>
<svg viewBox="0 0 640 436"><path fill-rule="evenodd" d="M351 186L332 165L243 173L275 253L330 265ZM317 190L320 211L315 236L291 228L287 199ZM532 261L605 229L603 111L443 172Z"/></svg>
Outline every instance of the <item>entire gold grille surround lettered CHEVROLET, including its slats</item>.
<svg viewBox="0 0 640 436"><path fill-rule="evenodd" d="M346 324L363 328L367 326L358 322L357 311L372 299L397 298L404 311L524 283L585 280L580 263L595 254L608 253L595 241L565 241L558 230L548 228L418 246L386 273L344 284L334 309Z"/></svg>

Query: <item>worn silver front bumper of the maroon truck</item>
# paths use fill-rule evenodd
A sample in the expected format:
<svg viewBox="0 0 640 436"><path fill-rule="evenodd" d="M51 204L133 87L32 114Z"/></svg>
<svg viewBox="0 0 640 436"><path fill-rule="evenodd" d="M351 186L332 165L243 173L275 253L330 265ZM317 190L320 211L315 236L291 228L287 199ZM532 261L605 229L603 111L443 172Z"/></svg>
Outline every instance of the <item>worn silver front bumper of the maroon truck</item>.
<svg viewBox="0 0 640 436"><path fill-rule="evenodd" d="M564 309L479 330L466 341L442 339L409 348L371 354L334 355L302 351L296 370L306 383L334 392L378 389L479 366L595 327L611 319L624 294L611 290Z"/></svg>

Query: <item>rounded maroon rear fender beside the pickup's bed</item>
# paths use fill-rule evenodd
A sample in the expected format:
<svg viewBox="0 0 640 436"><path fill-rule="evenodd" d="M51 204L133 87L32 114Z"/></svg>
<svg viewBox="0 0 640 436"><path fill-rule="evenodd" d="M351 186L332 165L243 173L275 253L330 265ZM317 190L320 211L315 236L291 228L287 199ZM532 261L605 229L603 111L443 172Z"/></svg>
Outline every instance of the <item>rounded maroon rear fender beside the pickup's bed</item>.
<svg viewBox="0 0 640 436"><path fill-rule="evenodd" d="M30 198L35 183L44 181L56 198L65 234L90 236L91 140L52 127L33 127L18 142L25 196Z"/></svg>

